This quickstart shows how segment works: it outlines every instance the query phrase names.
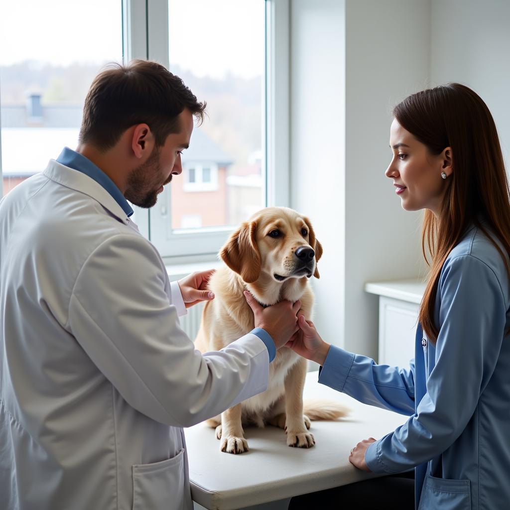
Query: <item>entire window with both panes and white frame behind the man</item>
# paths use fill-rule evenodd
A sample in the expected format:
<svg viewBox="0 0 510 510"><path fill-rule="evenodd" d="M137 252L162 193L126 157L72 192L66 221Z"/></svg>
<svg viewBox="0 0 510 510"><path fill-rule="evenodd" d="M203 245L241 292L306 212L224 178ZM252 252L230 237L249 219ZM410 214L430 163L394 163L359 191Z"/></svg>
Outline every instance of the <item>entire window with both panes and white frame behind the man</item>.
<svg viewBox="0 0 510 510"><path fill-rule="evenodd" d="M288 205L288 4L10 4L0 17L3 193L77 146L83 102L104 64L156 60L207 101L208 115L193 131L183 174L150 211L135 207L134 219L164 257L214 256L252 213Z"/></svg>

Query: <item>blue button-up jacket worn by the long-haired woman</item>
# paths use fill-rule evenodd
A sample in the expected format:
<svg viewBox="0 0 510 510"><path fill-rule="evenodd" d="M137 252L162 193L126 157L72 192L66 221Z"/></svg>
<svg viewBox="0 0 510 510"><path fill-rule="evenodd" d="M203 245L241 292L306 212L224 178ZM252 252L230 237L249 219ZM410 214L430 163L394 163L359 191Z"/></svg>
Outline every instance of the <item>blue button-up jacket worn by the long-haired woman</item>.
<svg viewBox="0 0 510 510"><path fill-rule="evenodd" d="M410 417L365 460L376 473L415 467L419 509L510 508L509 287L501 255L473 226L441 270L435 346L418 324L409 368L335 346L322 367L322 384Z"/></svg>

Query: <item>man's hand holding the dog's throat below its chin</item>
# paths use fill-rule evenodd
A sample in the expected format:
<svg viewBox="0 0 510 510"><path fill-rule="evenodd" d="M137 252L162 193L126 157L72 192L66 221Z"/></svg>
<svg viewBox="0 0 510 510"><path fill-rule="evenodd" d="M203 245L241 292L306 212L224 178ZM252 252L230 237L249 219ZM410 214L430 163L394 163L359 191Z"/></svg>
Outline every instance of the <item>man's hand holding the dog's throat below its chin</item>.
<svg viewBox="0 0 510 510"><path fill-rule="evenodd" d="M255 327L265 329L277 349L283 347L299 329L296 314L301 308L301 301L294 304L280 301L264 308L248 291L244 291L244 297L253 311Z"/></svg>

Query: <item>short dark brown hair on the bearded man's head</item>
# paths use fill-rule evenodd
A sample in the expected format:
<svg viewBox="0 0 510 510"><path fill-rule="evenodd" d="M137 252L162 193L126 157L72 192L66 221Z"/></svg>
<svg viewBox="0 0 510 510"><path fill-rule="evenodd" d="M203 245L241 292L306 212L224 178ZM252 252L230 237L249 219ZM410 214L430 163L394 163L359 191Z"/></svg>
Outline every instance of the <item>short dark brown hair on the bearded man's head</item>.
<svg viewBox="0 0 510 510"><path fill-rule="evenodd" d="M113 147L129 127L145 123L161 147L180 130L178 116L187 108L202 122L206 103L157 62L132 60L109 64L90 86L83 108L80 143L101 151Z"/></svg>

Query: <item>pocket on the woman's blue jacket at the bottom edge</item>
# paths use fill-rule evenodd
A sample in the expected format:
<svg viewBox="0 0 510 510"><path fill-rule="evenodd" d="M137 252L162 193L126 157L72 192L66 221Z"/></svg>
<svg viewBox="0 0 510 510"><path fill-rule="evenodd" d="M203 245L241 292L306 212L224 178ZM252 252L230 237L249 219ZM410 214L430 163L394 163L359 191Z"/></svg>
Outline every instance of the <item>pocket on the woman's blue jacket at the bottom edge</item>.
<svg viewBox="0 0 510 510"><path fill-rule="evenodd" d="M471 482L427 475L418 510L471 510Z"/></svg>

